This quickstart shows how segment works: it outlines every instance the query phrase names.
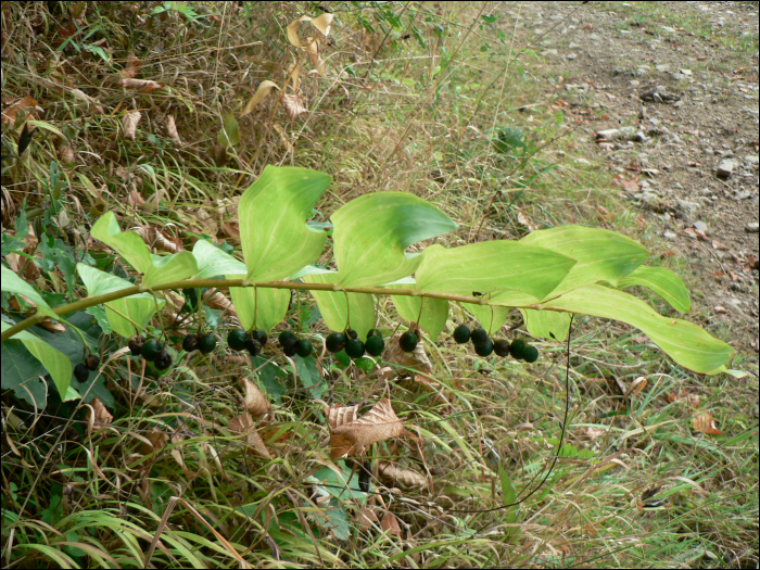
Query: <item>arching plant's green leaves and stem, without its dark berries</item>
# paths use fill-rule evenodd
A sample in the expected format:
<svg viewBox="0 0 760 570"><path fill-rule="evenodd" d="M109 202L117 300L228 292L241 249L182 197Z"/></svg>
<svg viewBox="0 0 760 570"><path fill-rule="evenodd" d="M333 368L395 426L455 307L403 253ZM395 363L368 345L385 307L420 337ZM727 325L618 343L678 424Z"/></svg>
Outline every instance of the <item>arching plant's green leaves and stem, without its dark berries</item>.
<svg viewBox="0 0 760 570"><path fill-rule="evenodd" d="M329 183L324 173L267 166L240 199L242 261L205 240L198 241L192 252L152 254L137 232L122 231L109 212L92 226L91 235L135 268L138 284L79 263L77 271L88 296L53 309L33 286L3 266L2 291L24 295L36 304L37 313L15 326L3 321L2 341L21 340L66 394L69 359L26 330L47 317L61 319L103 305L111 329L134 338L163 305L165 291L215 287L229 290L243 332L265 334L284 318L290 291L308 290L330 330L355 331L359 339L368 339L376 327L378 300L392 295L398 314L433 340L445 327L452 302L492 331L517 307L533 337L558 341L566 339L572 314L586 314L641 329L673 360L696 372L739 373L726 368L734 354L729 344L697 325L660 315L625 291L642 286L681 313L691 308L681 279L664 268L643 265L647 250L613 231L562 226L518 241L435 244L408 253L409 245L451 232L457 225L413 194L377 192L350 201L332 215L337 269L314 265L325 253L330 228L308 219ZM238 340L243 346L249 339L242 334ZM473 344L485 345L489 353L493 350L487 342ZM290 350L296 352L296 346Z"/></svg>

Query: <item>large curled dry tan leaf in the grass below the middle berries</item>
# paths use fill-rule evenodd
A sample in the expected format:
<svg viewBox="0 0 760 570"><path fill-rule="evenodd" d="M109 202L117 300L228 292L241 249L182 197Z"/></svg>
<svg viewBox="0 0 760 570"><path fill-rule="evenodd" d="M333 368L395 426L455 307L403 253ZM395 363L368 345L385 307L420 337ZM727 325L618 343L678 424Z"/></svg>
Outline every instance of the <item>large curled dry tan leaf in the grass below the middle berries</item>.
<svg viewBox="0 0 760 570"><path fill-rule="evenodd" d="M387 397L375 404L359 419L332 430L330 436L333 459L360 455L375 442L397 438L404 432L404 422L396 416Z"/></svg>

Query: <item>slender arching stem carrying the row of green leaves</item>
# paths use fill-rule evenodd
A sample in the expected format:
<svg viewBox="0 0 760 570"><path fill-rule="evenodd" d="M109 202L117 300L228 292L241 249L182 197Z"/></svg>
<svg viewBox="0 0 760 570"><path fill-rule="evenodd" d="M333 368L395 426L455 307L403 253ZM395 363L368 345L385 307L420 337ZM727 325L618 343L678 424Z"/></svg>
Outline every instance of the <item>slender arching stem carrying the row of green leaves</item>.
<svg viewBox="0 0 760 570"><path fill-rule="evenodd" d="M487 305L485 297L472 297L465 295L453 295L447 293L420 293L414 289L387 289L384 287L356 287L346 289L335 289L333 283L300 283L296 281L269 281L266 283L245 283L243 284L243 279L183 279L181 281L173 281L170 283L164 283L155 286L152 288L143 288L142 286L127 287L126 289L119 289L118 291L112 291L104 295L88 296L75 301L74 303L68 303L67 305L61 305L60 307L53 308L56 315L67 315L76 311L81 311L83 308L92 307L96 305L102 305L103 303L109 303L111 301L117 301L127 296L136 295L138 293L154 292L154 291L165 291L167 289L190 289L190 288L208 288L215 287L217 289L229 289L231 287L266 287L268 289L296 289L302 291L330 291L339 292L344 291L346 293L363 293L370 295L402 295L402 296L421 296L430 299L443 299L445 301L456 301L460 303L472 303L474 305ZM523 308L541 308L544 311L558 311L560 313L567 313L563 309L542 307L539 304L529 305ZM3 331L0 340L5 342L8 339L14 334L26 330L29 327L38 325L45 320L45 315L33 315L31 317L22 320L21 322L10 327Z"/></svg>

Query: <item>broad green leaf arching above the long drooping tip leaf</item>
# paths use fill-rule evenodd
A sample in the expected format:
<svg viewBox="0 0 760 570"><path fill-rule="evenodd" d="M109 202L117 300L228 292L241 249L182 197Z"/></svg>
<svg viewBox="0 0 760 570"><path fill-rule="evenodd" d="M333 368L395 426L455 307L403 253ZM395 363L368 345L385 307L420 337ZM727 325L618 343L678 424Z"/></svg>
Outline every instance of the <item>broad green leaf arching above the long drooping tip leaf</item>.
<svg viewBox="0 0 760 570"><path fill-rule="evenodd" d="M598 281L617 287L618 281L644 263L648 255L646 248L625 236L581 226L534 231L522 238L520 243L546 248L578 262L562 282L542 299Z"/></svg>

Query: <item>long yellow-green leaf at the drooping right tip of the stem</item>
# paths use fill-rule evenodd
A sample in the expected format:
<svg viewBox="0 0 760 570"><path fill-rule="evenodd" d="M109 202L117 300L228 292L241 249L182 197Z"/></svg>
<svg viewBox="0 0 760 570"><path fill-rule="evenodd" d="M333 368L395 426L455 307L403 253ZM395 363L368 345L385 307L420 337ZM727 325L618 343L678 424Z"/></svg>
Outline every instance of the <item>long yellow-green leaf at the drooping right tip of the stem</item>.
<svg viewBox="0 0 760 570"><path fill-rule="evenodd" d="M696 372L725 371L734 350L692 322L663 317L633 295L600 284L590 284L548 301L545 307L622 320L643 330L681 366Z"/></svg>

